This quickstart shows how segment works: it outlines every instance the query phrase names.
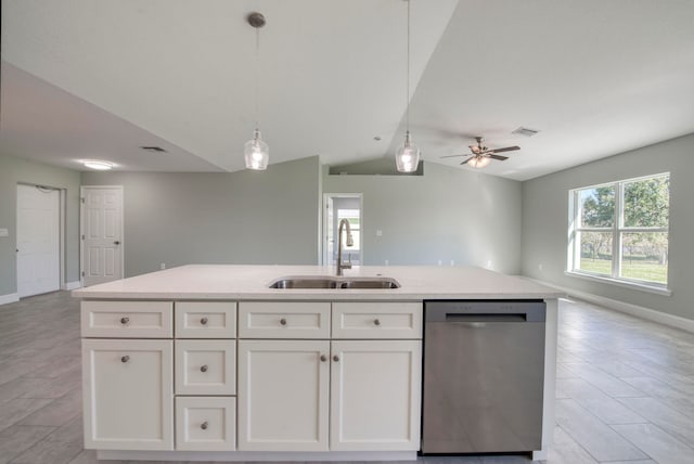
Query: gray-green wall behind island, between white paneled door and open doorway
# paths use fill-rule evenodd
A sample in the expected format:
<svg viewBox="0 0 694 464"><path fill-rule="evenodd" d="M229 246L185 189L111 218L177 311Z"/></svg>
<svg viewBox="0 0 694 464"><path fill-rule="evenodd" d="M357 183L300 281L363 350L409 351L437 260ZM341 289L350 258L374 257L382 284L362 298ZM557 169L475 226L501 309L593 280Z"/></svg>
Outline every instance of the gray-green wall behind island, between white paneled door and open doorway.
<svg viewBox="0 0 694 464"><path fill-rule="evenodd" d="M83 172L124 186L125 274L189 263L314 265L318 157L265 172Z"/></svg>

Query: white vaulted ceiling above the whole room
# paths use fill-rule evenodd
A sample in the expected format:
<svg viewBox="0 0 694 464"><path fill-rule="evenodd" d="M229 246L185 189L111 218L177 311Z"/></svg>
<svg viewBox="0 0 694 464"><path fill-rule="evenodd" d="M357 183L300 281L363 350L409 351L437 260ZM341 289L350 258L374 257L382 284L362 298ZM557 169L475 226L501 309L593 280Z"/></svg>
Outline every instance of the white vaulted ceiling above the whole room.
<svg viewBox="0 0 694 464"><path fill-rule="evenodd" d="M411 0L410 126L459 166L475 136L526 180L694 132L694 2ZM81 169L234 171L393 157L404 132L403 0L4 0L0 154ZM540 132L511 133L519 126ZM380 139L380 140L376 140ZM153 154L143 145L164 147ZM395 163L395 162L394 162Z"/></svg>

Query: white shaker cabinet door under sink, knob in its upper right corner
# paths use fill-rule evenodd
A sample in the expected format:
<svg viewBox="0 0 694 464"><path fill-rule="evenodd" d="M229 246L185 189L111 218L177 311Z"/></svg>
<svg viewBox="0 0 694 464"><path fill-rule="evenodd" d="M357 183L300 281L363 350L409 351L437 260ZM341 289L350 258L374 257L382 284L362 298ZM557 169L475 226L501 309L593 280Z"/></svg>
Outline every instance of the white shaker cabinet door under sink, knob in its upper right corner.
<svg viewBox="0 0 694 464"><path fill-rule="evenodd" d="M239 341L240 451L327 451L330 341Z"/></svg>

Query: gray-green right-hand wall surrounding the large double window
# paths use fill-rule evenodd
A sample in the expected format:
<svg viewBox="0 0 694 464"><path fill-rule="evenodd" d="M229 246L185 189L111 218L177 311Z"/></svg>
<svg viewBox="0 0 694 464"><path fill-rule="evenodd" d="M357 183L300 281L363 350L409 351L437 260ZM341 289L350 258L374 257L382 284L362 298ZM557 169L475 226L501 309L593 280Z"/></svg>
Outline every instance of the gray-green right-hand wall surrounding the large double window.
<svg viewBox="0 0 694 464"><path fill-rule="evenodd" d="M671 296L564 275L568 191L602 182L670 172ZM567 288L694 319L694 134L646 146L523 184L523 274ZM542 270L539 266L542 265Z"/></svg>

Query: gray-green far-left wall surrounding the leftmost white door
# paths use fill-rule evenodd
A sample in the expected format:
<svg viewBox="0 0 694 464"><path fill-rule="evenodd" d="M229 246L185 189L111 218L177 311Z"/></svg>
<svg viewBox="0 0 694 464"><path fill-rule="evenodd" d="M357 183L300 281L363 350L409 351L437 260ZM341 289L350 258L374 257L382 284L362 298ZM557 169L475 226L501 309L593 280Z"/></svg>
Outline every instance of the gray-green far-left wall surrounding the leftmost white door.
<svg viewBox="0 0 694 464"><path fill-rule="evenodd" d="M17 183L65 189L66 282L79 281L79 172L28 159L0 155L0 228L10 236L0 237L0 296L16 293Z"/></svg>

